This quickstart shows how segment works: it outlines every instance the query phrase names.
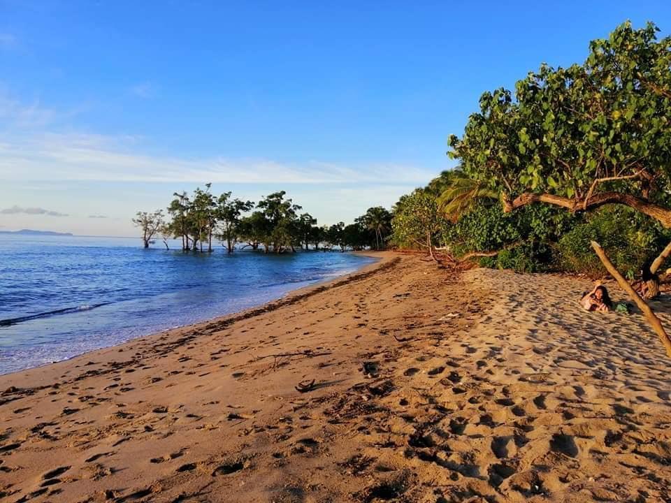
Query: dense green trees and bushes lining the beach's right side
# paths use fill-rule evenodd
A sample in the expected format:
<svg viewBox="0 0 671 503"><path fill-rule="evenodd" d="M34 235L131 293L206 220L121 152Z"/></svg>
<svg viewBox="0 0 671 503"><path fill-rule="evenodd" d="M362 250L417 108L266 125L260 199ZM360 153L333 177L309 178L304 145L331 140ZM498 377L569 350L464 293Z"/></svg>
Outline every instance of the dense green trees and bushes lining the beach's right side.
<svg viewBox="0 0 671 503"><path fill-rule="evenodd" d="M658 31L622 24L583 64L484 93L449 139L459 167L396 203L394 245L598 276L597 241L630 279L654 275L671 253L671 38Z"/></svg>

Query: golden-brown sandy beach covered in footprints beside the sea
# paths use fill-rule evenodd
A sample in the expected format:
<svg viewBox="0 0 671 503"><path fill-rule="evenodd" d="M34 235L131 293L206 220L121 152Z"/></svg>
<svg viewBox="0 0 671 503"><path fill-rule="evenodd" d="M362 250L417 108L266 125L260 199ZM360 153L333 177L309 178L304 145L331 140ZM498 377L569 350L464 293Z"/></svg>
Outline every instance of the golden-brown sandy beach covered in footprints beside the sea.
<svg viewBox="0 0 671 503"><path fill-rule="evenodd" d="M640 314L582 312L571 277L380 256L0 377L0 499L671 501L671 360Z"/></svg>

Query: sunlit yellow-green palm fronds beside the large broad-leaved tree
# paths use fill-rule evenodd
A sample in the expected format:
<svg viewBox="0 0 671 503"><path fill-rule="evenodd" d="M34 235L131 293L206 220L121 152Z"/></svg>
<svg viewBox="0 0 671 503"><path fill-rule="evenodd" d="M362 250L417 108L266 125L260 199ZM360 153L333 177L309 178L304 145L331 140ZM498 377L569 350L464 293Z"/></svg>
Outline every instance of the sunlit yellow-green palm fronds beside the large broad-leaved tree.
<svg viewBox="0 0 671 503"><path fill-rule="evenodd" d="M493 202L499 197L498 192L487 187L481 180L472 179L461 168L443 171L431 184L434 182L434 187L442 189L437 200L438 207L452 221L457 221L462 214L472 210L477 201Z"/></svg>

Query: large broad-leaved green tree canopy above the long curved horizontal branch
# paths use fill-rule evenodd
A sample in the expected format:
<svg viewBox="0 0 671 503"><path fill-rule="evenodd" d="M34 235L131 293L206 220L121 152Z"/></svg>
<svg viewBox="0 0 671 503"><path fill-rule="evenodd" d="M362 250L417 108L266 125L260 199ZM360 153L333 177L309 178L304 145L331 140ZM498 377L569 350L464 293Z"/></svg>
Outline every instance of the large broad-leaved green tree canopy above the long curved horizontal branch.
<svg viewBox="0 0 671 503"><path fill-rule="evenodd" d="M584 64L543 65L514 95L482 95L449 155L510 212L542 202L573 212L634 207L671 227L671 38L627 22Z"/></svg>

